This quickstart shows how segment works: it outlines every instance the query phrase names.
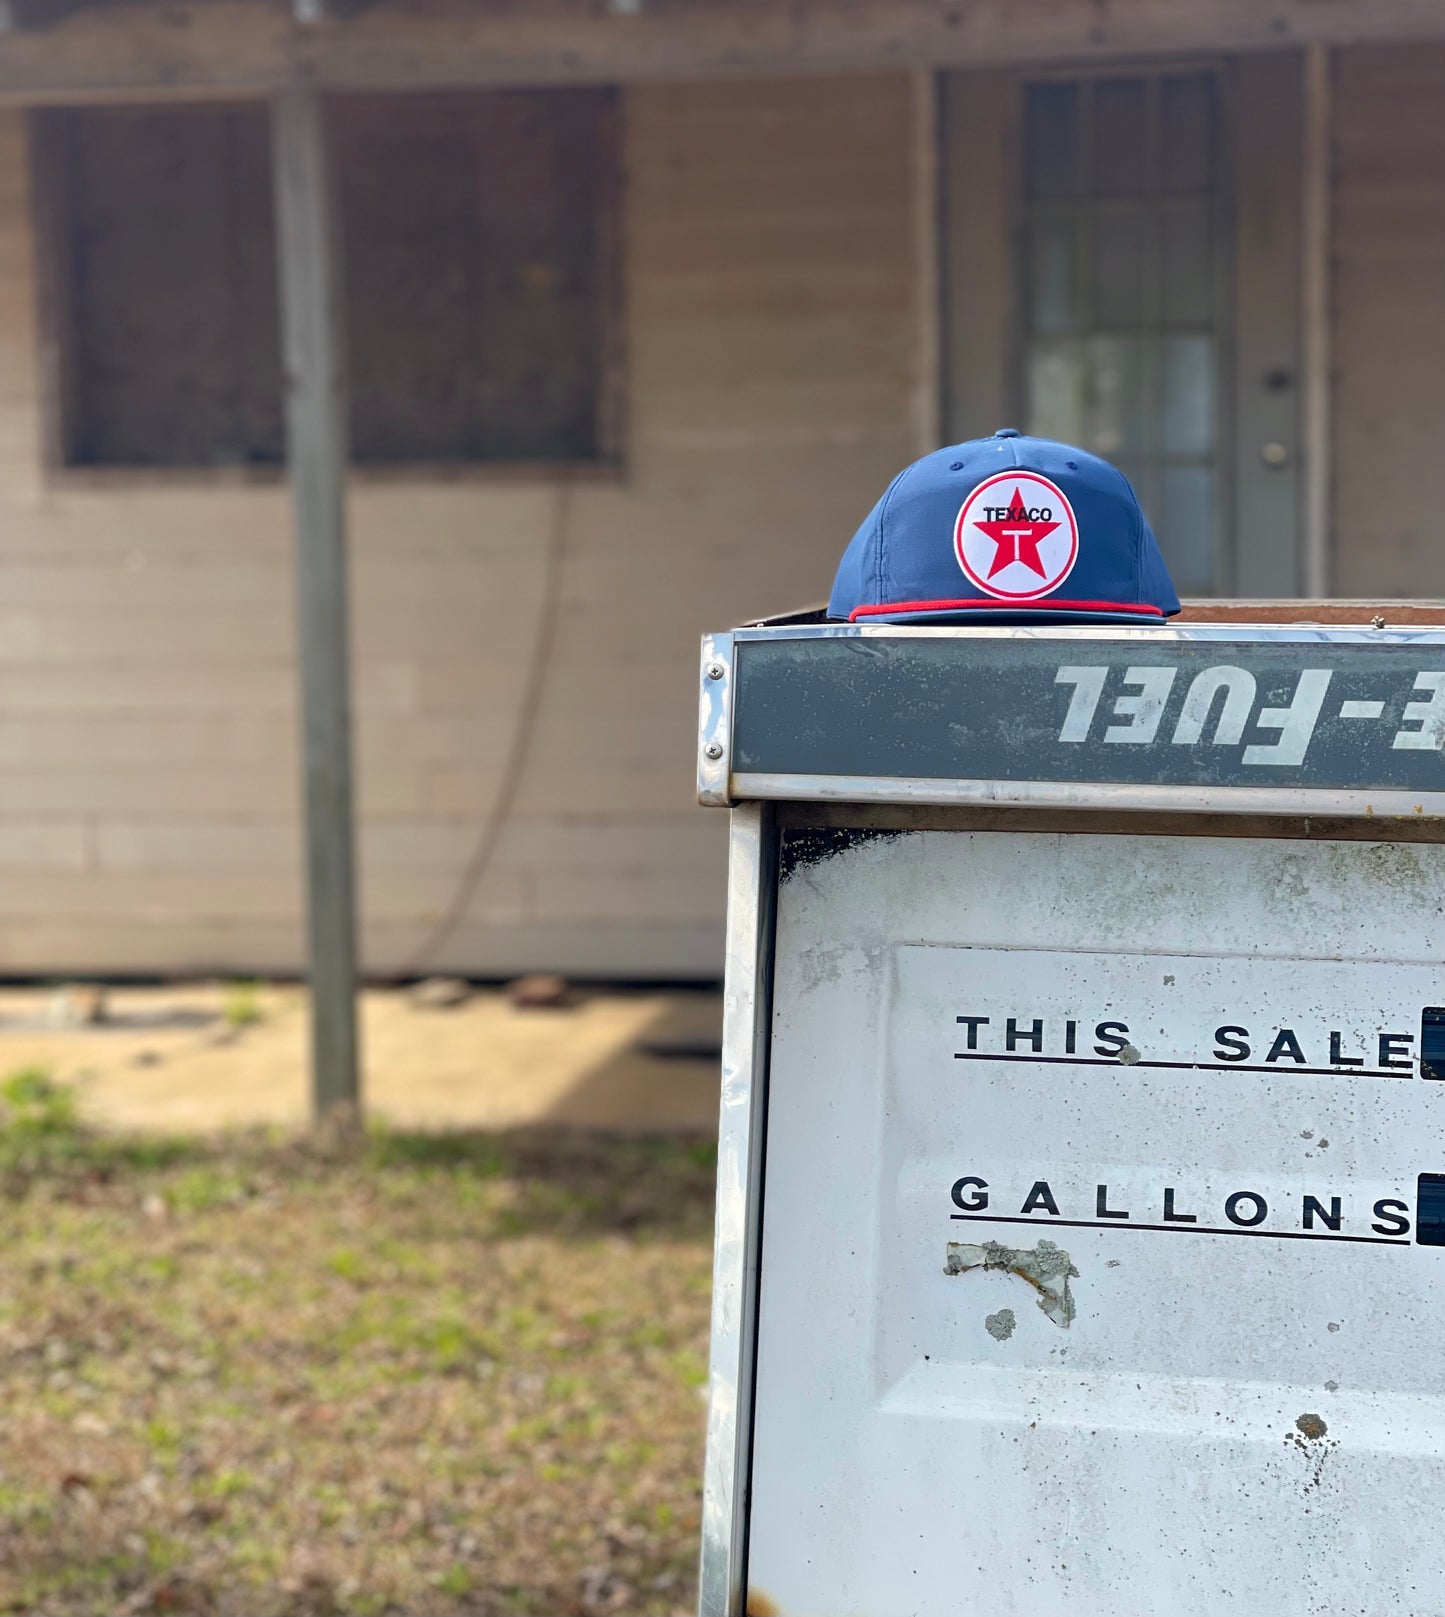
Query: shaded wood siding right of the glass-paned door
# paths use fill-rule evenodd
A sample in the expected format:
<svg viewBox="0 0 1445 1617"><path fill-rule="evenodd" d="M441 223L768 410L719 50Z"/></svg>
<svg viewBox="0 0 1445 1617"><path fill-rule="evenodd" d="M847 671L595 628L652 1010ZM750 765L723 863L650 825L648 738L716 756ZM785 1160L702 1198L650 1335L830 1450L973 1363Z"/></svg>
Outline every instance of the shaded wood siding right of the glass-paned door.
<svg viewBox="0 0 1445 1617"><path fill-rule="evenodd" d="M1445 49L1337 58L1337 595L1445 595Z"/></svg>

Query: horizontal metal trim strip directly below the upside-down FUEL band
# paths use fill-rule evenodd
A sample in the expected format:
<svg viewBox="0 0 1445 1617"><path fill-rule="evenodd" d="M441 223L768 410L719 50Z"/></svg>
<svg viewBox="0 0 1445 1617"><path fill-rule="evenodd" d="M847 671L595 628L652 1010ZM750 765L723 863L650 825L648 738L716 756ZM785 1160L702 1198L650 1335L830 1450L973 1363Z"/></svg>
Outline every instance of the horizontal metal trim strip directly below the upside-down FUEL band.
<svg viewBox="0 0 1445 1617"><path fill-rule="evenodd" d="M1283 813L1426 820L1445 792L1301 786L1152 786L1115 781L952 781L886 775L734 775L737 800L988 804L1034 808L1152 808L1175 813Z"/></svg>

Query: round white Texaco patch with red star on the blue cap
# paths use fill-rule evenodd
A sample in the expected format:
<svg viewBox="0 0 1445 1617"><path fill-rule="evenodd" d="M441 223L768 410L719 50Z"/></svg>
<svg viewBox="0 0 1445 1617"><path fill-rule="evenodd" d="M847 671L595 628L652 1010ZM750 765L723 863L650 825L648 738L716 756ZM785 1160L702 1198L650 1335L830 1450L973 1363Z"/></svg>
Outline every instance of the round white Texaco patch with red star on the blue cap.
<svg viewBox="0 0 1445 1617"><path fill-rule="evenodd" d="M1073 506L1038 472L996 472L963 501L954 555L968 582L994 600L1052 595L1078 558Z"/></svg>

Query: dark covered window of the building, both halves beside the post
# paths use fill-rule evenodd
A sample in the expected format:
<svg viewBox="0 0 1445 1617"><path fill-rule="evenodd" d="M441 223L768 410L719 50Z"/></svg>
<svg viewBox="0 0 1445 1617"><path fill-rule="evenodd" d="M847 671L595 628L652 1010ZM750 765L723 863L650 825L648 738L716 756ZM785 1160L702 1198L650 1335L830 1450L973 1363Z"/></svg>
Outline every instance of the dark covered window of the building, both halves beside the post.
<svg viewBox="0 0 1445 1617"><path fill-rule="evenodd" d="M606 453L611 107L333 103L357 461ZM265 110L66 110L36 133L61 458L280 461Z"/></svg>

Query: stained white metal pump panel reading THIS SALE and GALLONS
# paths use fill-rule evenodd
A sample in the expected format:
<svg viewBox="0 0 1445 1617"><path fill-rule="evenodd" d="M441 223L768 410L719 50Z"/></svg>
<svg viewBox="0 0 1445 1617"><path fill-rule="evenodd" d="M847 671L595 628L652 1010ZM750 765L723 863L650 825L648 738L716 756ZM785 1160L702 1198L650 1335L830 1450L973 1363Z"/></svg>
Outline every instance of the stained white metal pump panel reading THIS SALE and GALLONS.
<svg viewBox="0 0 1445 1617"><path fill-rule="evenodd" d="M790 833L750 1611L1445 1611L1445 847Z"/></svg>

